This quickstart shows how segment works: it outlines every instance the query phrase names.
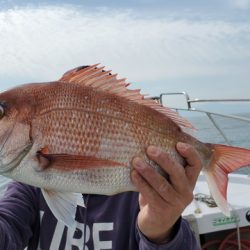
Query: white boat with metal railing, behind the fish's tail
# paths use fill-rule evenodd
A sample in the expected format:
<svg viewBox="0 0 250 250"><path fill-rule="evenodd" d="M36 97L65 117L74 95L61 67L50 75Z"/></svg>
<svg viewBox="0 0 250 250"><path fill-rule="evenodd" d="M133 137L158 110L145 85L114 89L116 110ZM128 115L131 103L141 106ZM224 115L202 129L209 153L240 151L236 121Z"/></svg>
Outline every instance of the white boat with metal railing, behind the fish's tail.
<svg viewBox="0 0 250 250"><path fill-rule="evenodd" d="M220 134L224 144L232 145L223 128L216 121L219 118L232 119L250 124L250 118L242 115L230 115L212 112L194 107L197 103L249 103L250 99L190 99L186 92L163 93L153 97L163 104L163 99L180 95L184 99L184 107L171 107L177 112L200 113L206 116L214 129ZM169 105L167 105L169 107ZM183 116L183 112L181 113ZM249 142L250 143L250 142ZM237 145L236 145L237 146ZM245 172L229 174L228 202L231 207L230 217L225 216L217 207L210 195L205 176L198 177L192 203L184 210L185 218L200 244L202 250L250 249L250 168Z"/></svg>

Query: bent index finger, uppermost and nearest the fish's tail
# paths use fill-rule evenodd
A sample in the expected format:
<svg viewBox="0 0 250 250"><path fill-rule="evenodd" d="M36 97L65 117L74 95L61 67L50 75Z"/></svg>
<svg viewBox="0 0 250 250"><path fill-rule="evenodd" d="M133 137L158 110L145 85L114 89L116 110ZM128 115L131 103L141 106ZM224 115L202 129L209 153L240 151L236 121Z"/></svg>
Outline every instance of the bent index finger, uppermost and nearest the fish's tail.
<svg viewBox="0 0 250 250"><path fill-rule="evenodd" d="M179 154L184 157L187 162L187 166L185 167L186 176L192 186L194 186L202 168L199 154L194 147L186 143L178 142L176 148Z"/></svg>

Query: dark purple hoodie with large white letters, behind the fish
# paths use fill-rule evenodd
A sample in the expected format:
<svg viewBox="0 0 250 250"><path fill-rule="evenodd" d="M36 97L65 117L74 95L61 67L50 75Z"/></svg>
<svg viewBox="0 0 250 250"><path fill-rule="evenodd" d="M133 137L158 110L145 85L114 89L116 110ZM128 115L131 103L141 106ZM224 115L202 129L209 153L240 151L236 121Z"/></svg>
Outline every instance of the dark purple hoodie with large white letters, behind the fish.
<svg viewBox="0 0 250 250"><path fill-rule="evenodd" d="M171 241L155 244L137 227L138 193L114 196L84 194L77 207L76 228L57 221L40 188L11 182L0 200L0 249L18 250L170 250L199 249L184 219Z"/></svg>

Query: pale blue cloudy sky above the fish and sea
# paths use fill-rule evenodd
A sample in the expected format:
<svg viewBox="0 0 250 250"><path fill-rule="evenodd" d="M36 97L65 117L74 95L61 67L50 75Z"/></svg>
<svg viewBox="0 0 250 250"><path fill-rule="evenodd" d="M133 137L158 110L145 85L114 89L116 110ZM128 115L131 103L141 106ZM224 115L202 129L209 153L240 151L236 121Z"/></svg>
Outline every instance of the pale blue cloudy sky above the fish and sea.
<svg viewBox="0 0 250 250"><path fill-rule="evenodd" d="M95 63L150 96L250 99L250 0L0 0L0 91Z"/></svg>

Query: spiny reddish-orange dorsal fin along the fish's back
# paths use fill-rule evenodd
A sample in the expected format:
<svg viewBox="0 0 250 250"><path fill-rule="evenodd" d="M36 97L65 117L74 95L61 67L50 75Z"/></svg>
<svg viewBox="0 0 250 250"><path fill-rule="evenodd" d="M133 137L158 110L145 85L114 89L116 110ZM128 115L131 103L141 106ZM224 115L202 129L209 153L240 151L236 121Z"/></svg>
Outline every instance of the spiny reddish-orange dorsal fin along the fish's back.
<svg viewBox="0 0 250 250"><path fill-rule="evenodd" d="M115 94L126 98L127 100L136 102L140 105L148 106L170 118L177 125L187 128L194 128L186 119L181 117L177 112L170 108L164 107L152 99L145 99L140 94L140 90L128 89L126 79L117 79L117 74L111 74L111 71L103 70L104 67L98 67L99 64L91 66L81 66L67 71L60 79L60 82L69 82L93 87L106 93Z"/></svg>

